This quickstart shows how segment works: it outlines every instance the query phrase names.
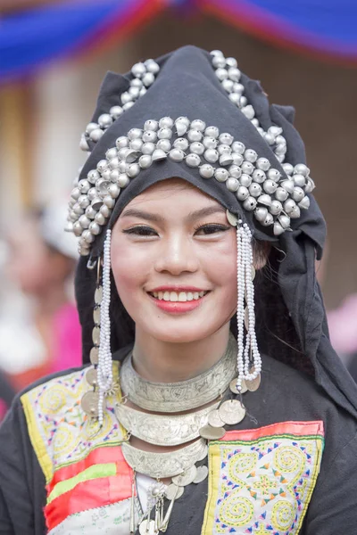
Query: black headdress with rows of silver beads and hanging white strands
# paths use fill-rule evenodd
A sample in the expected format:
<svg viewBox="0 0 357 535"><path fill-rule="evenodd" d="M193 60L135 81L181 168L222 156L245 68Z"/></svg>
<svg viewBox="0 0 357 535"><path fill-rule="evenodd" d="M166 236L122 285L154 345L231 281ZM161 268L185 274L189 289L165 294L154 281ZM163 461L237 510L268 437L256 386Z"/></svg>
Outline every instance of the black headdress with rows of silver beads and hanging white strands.
<svg viewBox="0 0 357 535"><path fill-rule="evenodd" d="M129 342L118 314L115 324L110 315L116 307L121 321L129 321L111 289L112 226L147 187L179 177L220 202L237 225L238 391L261 368L251 276L254 237L276 244L284 257L277 266L278 284L270 284L264 304L278 302L287 309L301 347L294 365L310 366L336 403L357 414L353 382L328 341L314 272L325 224L311 196L314 184L293 117L292 108L270 105L259 82L219 51L186 46L156 62L137 63L125 76L106 76L81 139L90 154L71 193L68 221L68 229L79 236L76 290L84 360L90 352L97 366L99 407L112 385L111 352ZM97 274L103 256L102 288Z"/></svg>

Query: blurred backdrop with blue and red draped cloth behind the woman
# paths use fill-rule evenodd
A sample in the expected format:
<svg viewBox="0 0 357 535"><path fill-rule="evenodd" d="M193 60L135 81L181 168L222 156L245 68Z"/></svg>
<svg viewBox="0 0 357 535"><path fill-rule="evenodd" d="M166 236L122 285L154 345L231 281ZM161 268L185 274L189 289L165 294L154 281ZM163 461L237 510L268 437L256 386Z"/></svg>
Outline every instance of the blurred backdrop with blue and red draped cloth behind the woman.
<svg viewBox="0 0 357 535"><path fill-rule="evenodd" d="M328 251L318 276L332 337L346 362L357 354L356 28L355 0L0 0L0 317L9 333L9 316L16 323L29 309L27 322L34 322L45 355L40 362L35 358L35 375L55 369L52 316L71 303L74 262L66 247L63 253L58 241L49 244L41 235L38 208L58 207L71 190L85 158L80 134L105 72L126 72L135 62L187 44L236 57L241 70L262 80L271 103L295 106L295 125L328 222ZM9 264L16 247L29 243L23 229L30 225L46 245L45 257L60 254L62 268L51 264L52 272L60 272L51 282L54 295L48 281L46 288L24 288ZM29 256L19 259L25 278L34 250L32 245ZM46 261L36 269L48 270ZM78 333L71 335L76 365ZM26 372L29 358L20 358L24 370L9 370L13 334L6 343L1 337L0 325L0 368L16 390L28 379L12 376Z"/></svg>

